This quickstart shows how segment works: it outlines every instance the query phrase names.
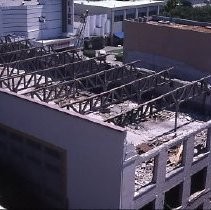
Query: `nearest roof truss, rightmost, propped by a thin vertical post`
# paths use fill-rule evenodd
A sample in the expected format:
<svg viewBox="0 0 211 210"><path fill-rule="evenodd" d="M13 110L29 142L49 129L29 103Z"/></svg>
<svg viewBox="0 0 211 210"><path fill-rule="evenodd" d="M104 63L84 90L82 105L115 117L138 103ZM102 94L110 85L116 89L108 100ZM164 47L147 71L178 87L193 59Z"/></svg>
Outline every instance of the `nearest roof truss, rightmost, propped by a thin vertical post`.
<svg viewBox="0 0 211 210"><path fill-rule="evenodd" d="M208 79L210 79L210 77L211 76L204 77L200 80L179 87L105 121L123 127L129 124L138 123L159 111L180 105L181 103L189 101L197 96L210 94L211 90L208 85Z"/></svg>

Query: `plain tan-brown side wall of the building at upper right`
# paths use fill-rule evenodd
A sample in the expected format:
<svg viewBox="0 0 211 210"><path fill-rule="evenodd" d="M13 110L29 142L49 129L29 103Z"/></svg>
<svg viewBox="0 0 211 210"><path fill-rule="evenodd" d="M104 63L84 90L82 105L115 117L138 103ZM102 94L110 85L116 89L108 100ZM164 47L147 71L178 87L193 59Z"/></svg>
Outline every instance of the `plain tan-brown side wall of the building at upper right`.
<svg viewBox="0 0 211 210"><path fill-rule="evenodd" d="M144 52L184 62L211 72L211 33L124 22L124 52Z"/></svg>

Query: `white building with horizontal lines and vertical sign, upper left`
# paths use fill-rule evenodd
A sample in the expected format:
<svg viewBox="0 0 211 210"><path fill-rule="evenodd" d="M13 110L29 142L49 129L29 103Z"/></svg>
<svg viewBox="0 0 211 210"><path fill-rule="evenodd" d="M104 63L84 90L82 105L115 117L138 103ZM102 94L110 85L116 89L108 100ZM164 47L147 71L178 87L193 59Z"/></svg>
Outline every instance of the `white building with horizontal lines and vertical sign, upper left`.
<svg viewBox="0 0 211 210"><path fill-rule="evenodd" d="M73 29L72 0L0 0L0 35L62 37Z"/></svg>

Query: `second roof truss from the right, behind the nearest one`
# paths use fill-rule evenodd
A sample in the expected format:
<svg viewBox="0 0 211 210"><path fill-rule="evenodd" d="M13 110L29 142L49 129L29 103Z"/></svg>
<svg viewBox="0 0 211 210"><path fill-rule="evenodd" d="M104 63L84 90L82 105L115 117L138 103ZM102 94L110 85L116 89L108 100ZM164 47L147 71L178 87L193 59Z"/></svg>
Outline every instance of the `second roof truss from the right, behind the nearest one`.
<svg viewBox="0 0 211 210"><path fill-rule="evenodd" d="M136 98L136 100L139 101L141 94L153 90L155 87L171 83L169 70L170 69L137 79L125 85L93 95L80 101L63 104L61 107L67 107L67 109L72 108L78 113L85 114L132 98Z"/></svg>

